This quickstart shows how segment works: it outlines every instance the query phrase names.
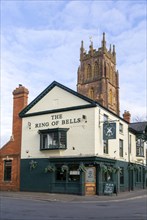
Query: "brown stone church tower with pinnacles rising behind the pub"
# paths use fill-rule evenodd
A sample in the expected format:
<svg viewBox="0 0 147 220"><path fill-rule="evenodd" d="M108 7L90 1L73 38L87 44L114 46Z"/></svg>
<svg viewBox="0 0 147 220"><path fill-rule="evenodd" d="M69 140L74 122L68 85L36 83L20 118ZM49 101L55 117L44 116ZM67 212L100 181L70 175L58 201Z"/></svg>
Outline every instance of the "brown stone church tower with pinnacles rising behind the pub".
<svg viewBox="0 0 147 220"><path fill-rule="evenodd" d="M101 47L93 48L93 43L86 53L81 42L80 66L78 68L77 91L104 107L120 114L119 107L119 74L116 71L115 46L107 50L105 33Z"/></svg>

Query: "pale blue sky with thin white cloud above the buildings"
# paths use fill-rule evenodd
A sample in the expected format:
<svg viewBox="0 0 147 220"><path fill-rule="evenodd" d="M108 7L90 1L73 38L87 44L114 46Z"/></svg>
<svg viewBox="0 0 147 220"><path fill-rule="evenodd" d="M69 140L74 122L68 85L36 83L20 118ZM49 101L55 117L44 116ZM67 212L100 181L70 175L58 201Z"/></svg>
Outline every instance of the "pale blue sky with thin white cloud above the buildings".
<svg viewBox="0 0 147 220"><path fill-rule="evenodd" d="M22 84L30 103L54 80L75 90L80 46L116 48L120 110L147 120L146 0L1 0L0 71L3 146L12 135L13 90Z"/></svg>

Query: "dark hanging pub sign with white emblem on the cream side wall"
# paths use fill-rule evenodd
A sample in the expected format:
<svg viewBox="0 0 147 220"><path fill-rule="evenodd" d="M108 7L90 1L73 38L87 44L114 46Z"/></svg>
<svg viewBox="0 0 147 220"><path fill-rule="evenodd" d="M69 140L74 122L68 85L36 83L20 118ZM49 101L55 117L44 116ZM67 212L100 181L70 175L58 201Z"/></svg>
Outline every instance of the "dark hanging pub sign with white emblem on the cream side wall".
<svg viewBox="0 0 147 220"><path fill-rule="evenodd" d="M103 124L103 139L116 139L116 123L105 122Z"/></svg>

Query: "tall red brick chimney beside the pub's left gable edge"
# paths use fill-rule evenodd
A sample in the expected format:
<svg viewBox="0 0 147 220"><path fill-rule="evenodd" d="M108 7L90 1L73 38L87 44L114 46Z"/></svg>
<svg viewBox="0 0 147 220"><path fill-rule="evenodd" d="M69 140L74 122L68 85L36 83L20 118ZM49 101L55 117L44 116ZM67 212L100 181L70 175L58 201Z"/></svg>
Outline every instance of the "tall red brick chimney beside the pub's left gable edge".
<svg viewBox="0 0 147 220"><path fill-rule="evenodd" d="M21 145L22 119L19 117L19 112L28 104L29 91L24 86L19 84L19 87L13 91L13 123L12 137L18 146Z"/></svg>

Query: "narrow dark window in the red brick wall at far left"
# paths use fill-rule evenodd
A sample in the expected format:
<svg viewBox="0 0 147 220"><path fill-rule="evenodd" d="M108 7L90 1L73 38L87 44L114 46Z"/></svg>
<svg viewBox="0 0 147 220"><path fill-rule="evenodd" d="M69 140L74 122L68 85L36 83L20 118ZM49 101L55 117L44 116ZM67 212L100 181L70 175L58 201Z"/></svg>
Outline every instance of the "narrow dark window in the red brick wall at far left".
<svg viewBox="0 0 147 220"><path fill-rule="evenodd" d="M12 179L12 160L4 160L4 181Z"/></svg>

